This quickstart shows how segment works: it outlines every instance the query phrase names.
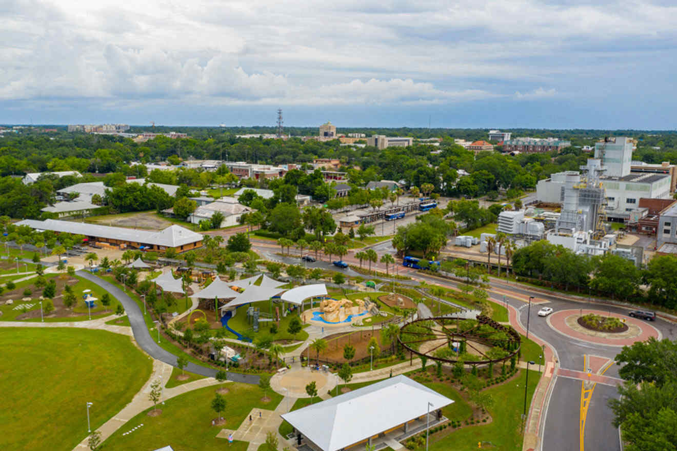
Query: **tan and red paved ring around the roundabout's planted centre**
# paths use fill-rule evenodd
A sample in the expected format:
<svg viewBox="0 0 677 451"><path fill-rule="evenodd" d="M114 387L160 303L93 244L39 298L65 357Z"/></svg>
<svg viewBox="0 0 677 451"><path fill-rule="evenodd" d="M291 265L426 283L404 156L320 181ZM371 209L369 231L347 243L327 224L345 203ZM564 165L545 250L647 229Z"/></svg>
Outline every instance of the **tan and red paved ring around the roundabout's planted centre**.
<svg viewBox="0 0 677 451"><path fill-rule="evenodd" d="M586 314L609 316L608 311L590 309L559 310L550 314L547 323L553 329L565 337L575 338L588 343L596 343L605 346L632 346L635 341L645 341L650 337L661 339L661 333L652 325L638 318L615 314L627 327L626 331L605 332L594 331L579 324L579 318Z"/></svg>

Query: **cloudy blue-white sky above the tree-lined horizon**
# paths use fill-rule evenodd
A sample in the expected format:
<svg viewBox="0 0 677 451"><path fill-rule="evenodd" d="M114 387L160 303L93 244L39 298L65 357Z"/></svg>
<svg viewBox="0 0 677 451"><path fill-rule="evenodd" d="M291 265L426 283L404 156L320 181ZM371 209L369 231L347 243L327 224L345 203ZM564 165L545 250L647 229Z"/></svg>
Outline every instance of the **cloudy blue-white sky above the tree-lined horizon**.
<svg viewBox="0 0 677 451"><path fill-rule="evenodd" d="M675 129L673 0L0 2L0 123Z"/></svg>

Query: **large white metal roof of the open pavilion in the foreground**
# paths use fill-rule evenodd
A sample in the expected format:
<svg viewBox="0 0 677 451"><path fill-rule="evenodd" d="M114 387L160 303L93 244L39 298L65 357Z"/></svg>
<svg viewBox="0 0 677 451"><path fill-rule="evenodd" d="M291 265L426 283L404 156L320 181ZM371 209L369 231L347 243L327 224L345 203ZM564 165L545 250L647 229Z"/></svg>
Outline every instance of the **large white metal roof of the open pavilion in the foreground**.
<svg viewBox="0 0 677 451"><path fill-rule="evenodd" d="M336 451L454 402L399 375L280 415L322 451Z"/></svg>

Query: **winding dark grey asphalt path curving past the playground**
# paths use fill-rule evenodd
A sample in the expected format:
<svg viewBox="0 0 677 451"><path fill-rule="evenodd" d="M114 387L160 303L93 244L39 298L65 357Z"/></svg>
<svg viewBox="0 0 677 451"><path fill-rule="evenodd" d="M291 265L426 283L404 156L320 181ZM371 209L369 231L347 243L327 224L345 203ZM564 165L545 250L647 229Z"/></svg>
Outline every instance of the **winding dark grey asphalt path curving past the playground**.
<svg viewBox="0 0 677 451"><path fill-rule="evenodd" d="M162 360L162 362L168 363L171 366L176 366L177 356L160 348L158 343L156 343L156 341L150 336L150 332L148 332L148 328L146 327L146 321L144 321L144 314L141 312L138 304L132 298L130 298L127 293L115 285L112 285L112 283L108 283L108 281L104 281L100 277L91 274L91 272L80 270L76 274L83 279L87 279L88 281L99 285L108 291L108 293L112 294L114 298L121 302L121 304L123 304L125 312L127 313L127 318L129 318L129 325L131 325L134 339L142 350L146 351L146 353L148 353L148 355L152 358ZM217 373L217 370L213 368L194 364L192 362L188 362L188 366L185 367L185 370L206 377L215 377ZM259 383L259 376L257 375L244 375L240 373L232 373L230 371L228 372L228 379L230 381L242 383Z"/></svg>

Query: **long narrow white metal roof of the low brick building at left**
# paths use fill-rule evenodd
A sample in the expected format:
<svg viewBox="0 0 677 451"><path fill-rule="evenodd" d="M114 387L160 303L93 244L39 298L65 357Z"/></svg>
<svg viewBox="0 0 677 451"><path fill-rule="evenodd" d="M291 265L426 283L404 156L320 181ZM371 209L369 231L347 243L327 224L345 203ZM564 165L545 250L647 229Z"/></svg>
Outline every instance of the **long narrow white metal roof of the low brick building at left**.
<svg viewBox="0 0 677 451"><path fill-rule="evenodd" d="M154 244L165 247L179 247L189 243L202 241L202 235L173 224L162 231L148 231L126 229L125 227L110 227L87 222L60 221L47 219L44 221L24 219L17 225L27 225L32 229L51 230L59 233L73 233L88 237L118 239L141 244Z"/></svg>

